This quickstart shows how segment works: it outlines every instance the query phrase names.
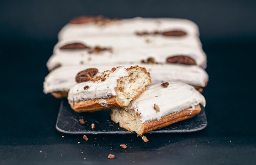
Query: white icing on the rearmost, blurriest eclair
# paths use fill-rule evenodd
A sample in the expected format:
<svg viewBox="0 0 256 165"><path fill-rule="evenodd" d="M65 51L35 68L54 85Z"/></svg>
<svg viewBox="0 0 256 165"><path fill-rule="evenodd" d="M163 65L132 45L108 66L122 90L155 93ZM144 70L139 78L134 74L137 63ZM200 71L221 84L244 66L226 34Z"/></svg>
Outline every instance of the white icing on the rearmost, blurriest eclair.
<svg viewBox="0 0 256 165"><path fill-rule="evenodd" d="M59 40L65 40L77 36L90 35L119 35L134 34L139 31L173 31L182 30L188 35L199 35L198 26L186 19L175 18L131 18L110 22L99 26L94 23L89 24L67 24L58 33Z"/></svg>

